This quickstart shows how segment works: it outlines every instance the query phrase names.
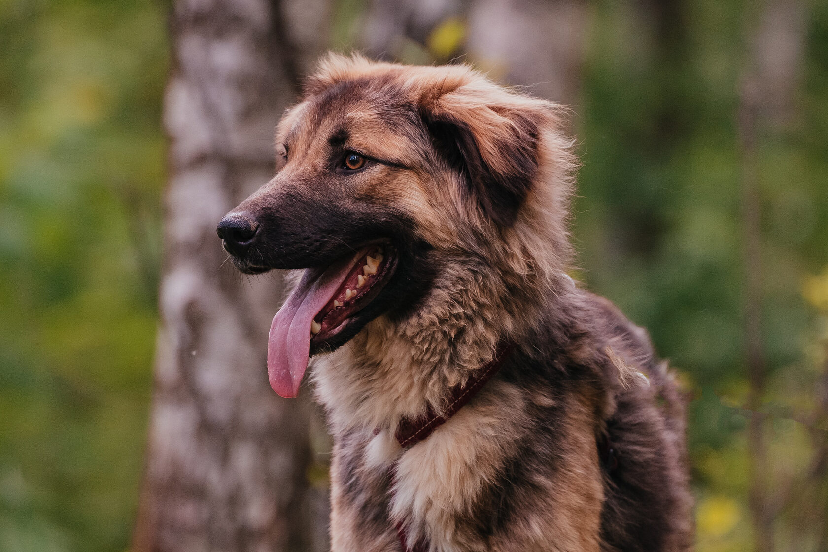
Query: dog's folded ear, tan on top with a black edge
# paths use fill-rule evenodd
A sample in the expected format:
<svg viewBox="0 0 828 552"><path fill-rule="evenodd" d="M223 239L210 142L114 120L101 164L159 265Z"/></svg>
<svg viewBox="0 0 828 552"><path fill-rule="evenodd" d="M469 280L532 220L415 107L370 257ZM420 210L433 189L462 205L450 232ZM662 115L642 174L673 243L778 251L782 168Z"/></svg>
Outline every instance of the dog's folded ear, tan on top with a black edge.
<svg viewBox="0 0 828 552"><path fill-rule="evenodd" d="M495 223L511 226L538 170L538 140L551 103L480 79L420 100L436 150L465 173L469 192Z"/></svg>

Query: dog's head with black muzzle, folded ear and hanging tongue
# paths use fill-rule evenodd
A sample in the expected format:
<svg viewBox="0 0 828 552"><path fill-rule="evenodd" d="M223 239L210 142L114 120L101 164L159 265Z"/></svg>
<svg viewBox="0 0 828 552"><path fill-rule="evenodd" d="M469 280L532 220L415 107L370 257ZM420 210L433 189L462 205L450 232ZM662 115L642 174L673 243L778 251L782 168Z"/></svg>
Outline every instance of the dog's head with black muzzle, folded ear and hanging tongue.
<svg viewBox="0 0 828 552"><path fill-rule="evenodd" d="M296 396L309 354L407 316L436 252L508 233L559 124L554 104L465 66L323 61L278 127L277 175L218 228L241 271L308 269L273 319L274 390Z"/></svg>

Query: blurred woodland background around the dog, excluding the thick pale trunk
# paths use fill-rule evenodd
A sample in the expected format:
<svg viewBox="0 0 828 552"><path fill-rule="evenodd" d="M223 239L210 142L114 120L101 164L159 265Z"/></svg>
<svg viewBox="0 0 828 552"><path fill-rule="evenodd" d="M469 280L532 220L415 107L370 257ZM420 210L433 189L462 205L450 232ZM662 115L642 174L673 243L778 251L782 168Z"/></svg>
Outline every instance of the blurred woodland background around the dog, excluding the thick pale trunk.
<svg viewBox="0 0 828 552"><path fill-rule="evenodd" d="M570 105L574 275L680 374L698 550L828 550L828 2L271 3L294 74L359 48ZM2 552L133 547L176 6L0 0Z"/></svg>

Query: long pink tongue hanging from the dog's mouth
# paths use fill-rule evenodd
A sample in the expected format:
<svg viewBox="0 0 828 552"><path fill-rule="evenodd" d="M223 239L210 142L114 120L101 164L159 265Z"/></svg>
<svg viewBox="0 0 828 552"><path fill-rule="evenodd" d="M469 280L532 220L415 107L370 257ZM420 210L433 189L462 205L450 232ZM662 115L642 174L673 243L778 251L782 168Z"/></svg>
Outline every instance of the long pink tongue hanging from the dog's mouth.
<svg viewBox="0 0 828 552"><path fill-rule="evenodd" d="M324 271L309 268L273 317L267 338L267 377L280 396L295 397L308 367L310 322L348 276L354 260L335 262Z"/></svg>

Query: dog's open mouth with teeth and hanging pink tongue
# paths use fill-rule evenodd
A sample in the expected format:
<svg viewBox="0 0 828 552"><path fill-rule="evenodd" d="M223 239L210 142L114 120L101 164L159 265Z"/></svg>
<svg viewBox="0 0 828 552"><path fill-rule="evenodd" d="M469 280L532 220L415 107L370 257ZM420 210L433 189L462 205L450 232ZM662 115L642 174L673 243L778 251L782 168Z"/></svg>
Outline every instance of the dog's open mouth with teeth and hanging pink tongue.
<svg viewBox="0 0 828 552"><path fill-rule="evenodd" d="M359 324L360 311L376 299L396 267L397 251L383 242L305 271L270 327L267 375L273 391L298 394L310 355L333 348L340 334Z"/></svg>

